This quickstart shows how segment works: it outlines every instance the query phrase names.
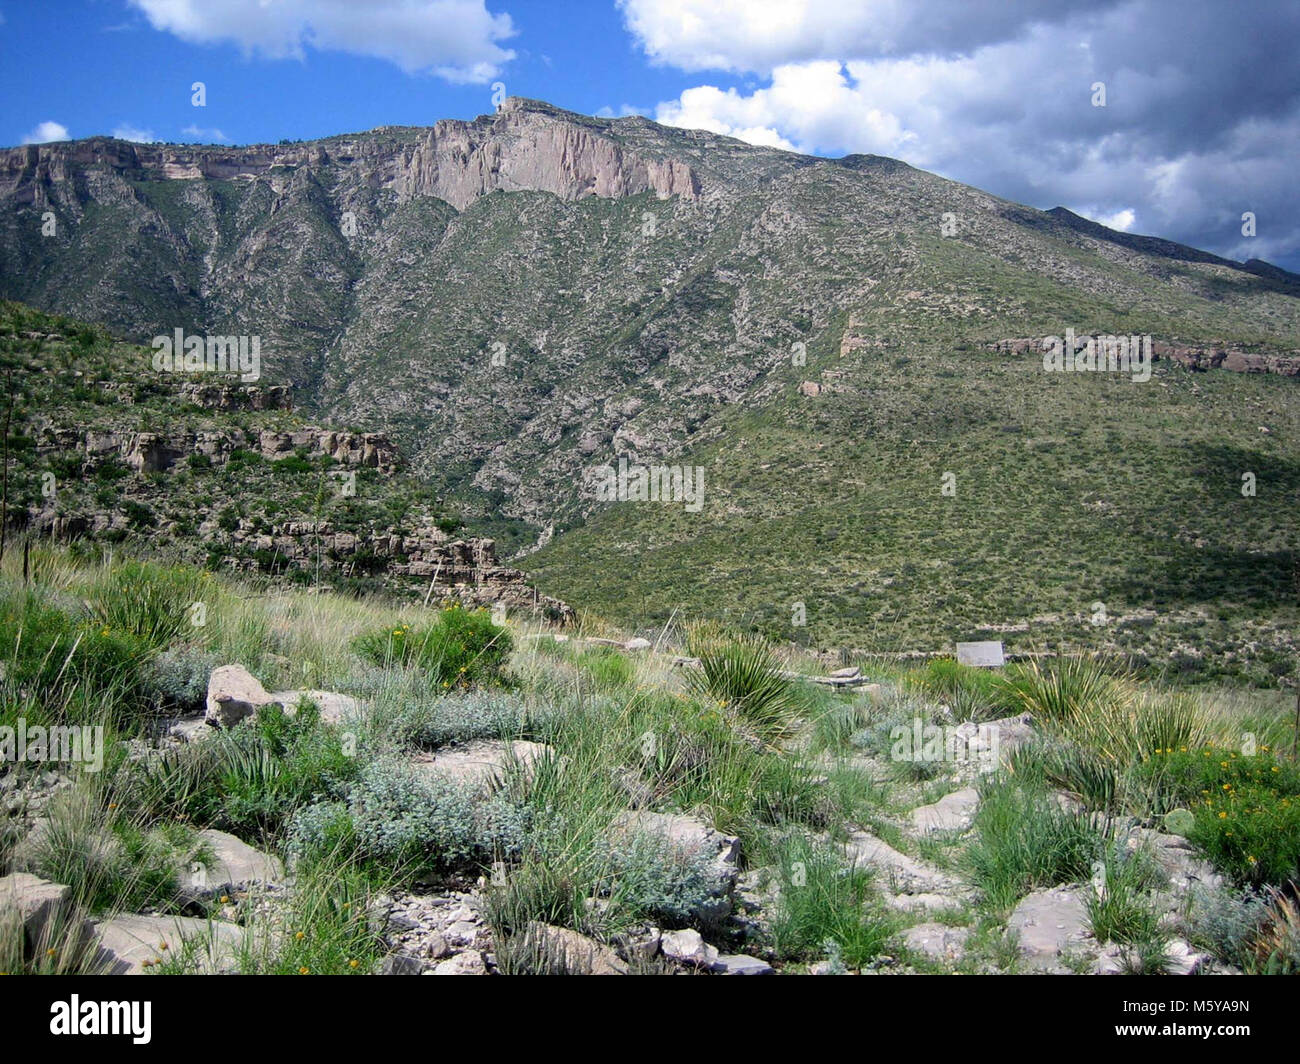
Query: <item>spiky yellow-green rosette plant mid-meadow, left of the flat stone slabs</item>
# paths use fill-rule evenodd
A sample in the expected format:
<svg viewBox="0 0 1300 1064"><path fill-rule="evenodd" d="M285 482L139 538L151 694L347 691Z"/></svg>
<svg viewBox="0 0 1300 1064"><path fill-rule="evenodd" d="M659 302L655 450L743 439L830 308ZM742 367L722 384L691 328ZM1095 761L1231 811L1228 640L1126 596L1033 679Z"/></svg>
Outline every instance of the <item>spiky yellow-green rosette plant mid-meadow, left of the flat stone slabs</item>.
<svg viewBox="0 0 1300 1064"><path fill-rule="evenodd" d="M774 744L789 734L798 713L793 685L771 649L740 637L699 649L699 669L688 674L690 691L716 701L733 723Z"/></svg>

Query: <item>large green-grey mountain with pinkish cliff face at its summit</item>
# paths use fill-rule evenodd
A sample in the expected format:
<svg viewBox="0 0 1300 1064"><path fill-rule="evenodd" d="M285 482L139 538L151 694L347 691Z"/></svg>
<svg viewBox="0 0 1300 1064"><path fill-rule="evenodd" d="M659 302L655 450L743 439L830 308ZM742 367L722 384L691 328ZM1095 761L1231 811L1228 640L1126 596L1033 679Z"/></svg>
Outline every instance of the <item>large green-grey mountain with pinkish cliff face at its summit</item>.
<svg viewBox="0 0 1300 1064"><path fill-rule="evenodd" d="M259 337L304 416L387 433L504 549L549 540L521 562L545 591L820 646L998 633L1277 682L1297 285L897 160L520 99L307 143L0 152L0 295L135 343ZM1044 372L1067 329L1162 358ZM620 457L702 467L702 509L602 501Z"/></svg>

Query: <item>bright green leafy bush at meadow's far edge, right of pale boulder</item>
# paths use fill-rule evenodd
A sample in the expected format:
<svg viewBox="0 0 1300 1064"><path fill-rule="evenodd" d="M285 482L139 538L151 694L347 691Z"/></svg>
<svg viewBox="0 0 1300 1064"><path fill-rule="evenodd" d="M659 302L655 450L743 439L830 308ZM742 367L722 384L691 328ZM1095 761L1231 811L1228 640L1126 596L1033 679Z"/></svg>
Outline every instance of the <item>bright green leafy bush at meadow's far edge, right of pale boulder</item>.
<svg viewBox="0 0 1300 1064"><path fill-rule="evenodd" d="M402 624L359 636L355 649L374 665L417 666L442 687L500 679L510 658L510 631L486 610L446 606L437 620L417 628Z"/></svg>

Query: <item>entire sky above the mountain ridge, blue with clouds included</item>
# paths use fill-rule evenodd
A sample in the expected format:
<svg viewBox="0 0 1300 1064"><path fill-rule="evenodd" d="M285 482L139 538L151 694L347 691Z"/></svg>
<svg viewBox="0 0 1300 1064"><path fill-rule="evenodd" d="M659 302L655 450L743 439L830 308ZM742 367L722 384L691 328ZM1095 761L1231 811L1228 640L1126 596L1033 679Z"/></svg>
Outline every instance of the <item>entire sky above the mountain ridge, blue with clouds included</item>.
<svg viewBox="0 0 1300 1064"><path fill-rule="evenodd" d="M585 113L889 155L1300 271L1300 4L0 0L0 20L9 144L432 125L488 113L500 82Z"/></svg>

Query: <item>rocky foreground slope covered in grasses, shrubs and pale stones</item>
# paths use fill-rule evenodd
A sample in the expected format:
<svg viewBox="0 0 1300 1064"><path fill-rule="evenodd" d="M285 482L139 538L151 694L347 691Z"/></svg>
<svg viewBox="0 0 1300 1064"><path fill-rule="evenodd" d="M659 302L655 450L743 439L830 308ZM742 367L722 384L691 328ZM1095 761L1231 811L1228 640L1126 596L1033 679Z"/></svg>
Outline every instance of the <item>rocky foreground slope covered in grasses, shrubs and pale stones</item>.
<svg viewBox="0 0 1300 1064"><path fill-rule="evenodd" d="M1300 965L1280 700L1083 658L833 689L715 623L593 635L10 553L0 727L107 734L99 771L0 777L0 883L62 888L0 970ZM233 663L286 689L213 717Z"/></svg>

